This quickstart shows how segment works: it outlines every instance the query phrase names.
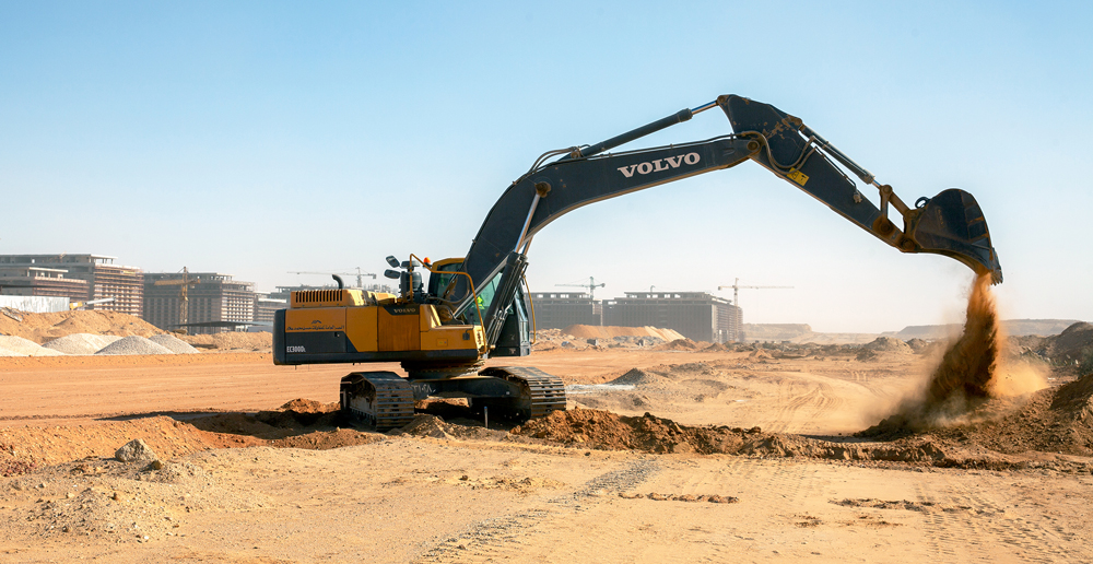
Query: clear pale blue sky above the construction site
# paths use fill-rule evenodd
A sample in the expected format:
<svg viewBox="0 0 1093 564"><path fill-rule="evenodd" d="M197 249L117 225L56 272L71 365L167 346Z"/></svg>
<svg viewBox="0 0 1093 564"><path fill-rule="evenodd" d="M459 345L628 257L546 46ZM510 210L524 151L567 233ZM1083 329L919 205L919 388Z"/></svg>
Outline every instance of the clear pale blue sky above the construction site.
<svg viewBox="0 0 1093 564"><path fill-rule="evenodd" d="M975 195L1004 317L1093 320L1091 5L0 0L0 254L259 290L461 256L539 154L732 93L905 200ZM627 148L730 131L707 111ZM530 259L537 291L792 285L742 292L745 321L824 331L956 321L971 281L753 164L577 210Z"/></svg>

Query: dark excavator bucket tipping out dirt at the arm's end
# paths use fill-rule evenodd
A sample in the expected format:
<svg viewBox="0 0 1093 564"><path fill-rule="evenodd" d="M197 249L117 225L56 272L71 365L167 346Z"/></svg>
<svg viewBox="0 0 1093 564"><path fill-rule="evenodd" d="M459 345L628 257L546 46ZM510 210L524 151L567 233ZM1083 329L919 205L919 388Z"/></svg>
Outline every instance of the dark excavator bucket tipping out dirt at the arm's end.
<svg viewBox="0 0 1093 564"><path fill-rule="evenodd" d="M998 254L990 245L990 233L983 210L971 193L956 188L933 198L922 198L913 225L906 235L918 244L914 252L935 252L967 265L976 274L990 274L992 284L1002 281Z"/></svg>

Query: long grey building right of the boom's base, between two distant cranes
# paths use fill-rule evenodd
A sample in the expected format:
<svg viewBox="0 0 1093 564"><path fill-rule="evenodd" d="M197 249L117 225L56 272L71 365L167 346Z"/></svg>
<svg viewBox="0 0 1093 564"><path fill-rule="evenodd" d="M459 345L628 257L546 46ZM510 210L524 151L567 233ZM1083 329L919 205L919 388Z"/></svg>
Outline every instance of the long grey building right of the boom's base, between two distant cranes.
<svg viewBox="0 0 1093 564"><path fill-rule="evenodd" d="M674 329L693 341L740 338L740 308L705 292L626 292L603 304L603 325Z"/></svg>

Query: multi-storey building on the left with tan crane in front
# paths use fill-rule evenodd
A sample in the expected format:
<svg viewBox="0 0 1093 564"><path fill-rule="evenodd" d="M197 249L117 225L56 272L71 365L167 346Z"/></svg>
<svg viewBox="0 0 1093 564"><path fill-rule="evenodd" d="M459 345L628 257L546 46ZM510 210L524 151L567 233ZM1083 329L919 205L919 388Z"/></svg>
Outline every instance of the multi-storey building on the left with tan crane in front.
<svg viewBox="0 0 1093 564"><path fill-rule="evenodd" d="M186 331L216 333L255 321L255 284L219 272L149 272L144 274L144 320L164 330L181 325L183 281L187 286ZM171 284L156 285L156 282ZM190 324L208 324L193 326ZM235 325L237 324L237 325Z"/></svg>

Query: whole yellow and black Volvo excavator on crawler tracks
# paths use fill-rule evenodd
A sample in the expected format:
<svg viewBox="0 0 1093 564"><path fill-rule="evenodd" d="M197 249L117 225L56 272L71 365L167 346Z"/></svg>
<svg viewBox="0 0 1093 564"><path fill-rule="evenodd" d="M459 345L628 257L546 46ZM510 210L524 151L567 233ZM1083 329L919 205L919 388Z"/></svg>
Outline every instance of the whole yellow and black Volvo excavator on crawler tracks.
<svg viewBox="0 0 1093 564"><path fill-rule="evenodd" d="M714 108L725 113L732 133L608 152ZM534 367L485 366L487 359L531 353L534 310L525 279L531 239L583 205L745 161L902 252L943 255L992 283L1002 281L971 193L947 189L908 205L800 118L722 95L592 145L543 153L502 193L465 257L387 257L391 269L385 275L399 280L398 294L346 289L337 277L337 289L293 292L289 307L274 316L273 362L401 363L406 376L362 371L341 380L343 413L379 431L409 423L414 401L428 397L466 398L479 412L518 421L564 410L559 377ZM868 186L878 190L879 205L862 193ZM889 218L893 209L902 226Z"/></svg>

